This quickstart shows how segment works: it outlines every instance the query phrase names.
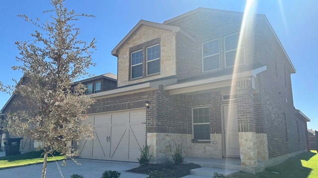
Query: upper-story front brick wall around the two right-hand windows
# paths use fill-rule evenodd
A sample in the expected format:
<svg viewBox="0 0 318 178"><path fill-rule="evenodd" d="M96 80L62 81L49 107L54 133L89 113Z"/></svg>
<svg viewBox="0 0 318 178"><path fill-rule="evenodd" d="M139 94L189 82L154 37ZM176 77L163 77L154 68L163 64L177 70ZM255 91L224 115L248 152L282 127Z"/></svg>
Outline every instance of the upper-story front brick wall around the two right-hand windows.
<svg viewBox="0 0 318 178"><path fill-rule="evenodd" d="M179 50L178 39L177 39L177 77L182 79L184 77L194 77L199 75L204 75L208 73L214 73L222 70L226 70L233 67L225 67L225 49L224 49L224 36L234 34L240 31L241 17L226 17L217 14L208 14L199 12L192 14L188 17L182 18L180 20L171 22L168 25L178 26L186 33L195 38L195 42L190 44L190 61L189 65L191 70L187 66L182 66L180 62L183 59L187 59L184 55L187 53L184 50ZM219 39L219 50L220 50L220 69L215 69L212 71L203 72L202 69L202 43ZM246 31L244 42L244 53L245 53L245 64L250 65L259 62L260 53L258 51L258 37L256 29L250 29ZM182 54L179 54L182 52ZM187 61L183 61L187 63ZM183 67L183 68L182 68ZM187 76L180 71L187 71ZM179 76L180 75L180 76Z"/></svg>

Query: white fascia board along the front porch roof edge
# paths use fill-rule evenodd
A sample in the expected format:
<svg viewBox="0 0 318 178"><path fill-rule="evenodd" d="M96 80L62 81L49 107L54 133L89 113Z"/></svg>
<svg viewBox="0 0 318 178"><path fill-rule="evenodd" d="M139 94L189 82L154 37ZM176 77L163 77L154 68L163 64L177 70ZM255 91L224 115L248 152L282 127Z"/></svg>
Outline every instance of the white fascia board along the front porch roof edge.
<svg viewBox="0 0 318 178"><path fill-rule="evenodd" d="M164 90L173 90L173 89L184 90L185 88L191 88L193 86L206 86L207 84L212 84L212 83L222 83L221 86L226 87L226 86L231 85L231 82L227 82L227 81L231 81L232 79L238 79L238 78L246 78L246 77L255 77L256 78L256 74L258 74L262 71L265 71L265 70L266 70L266 65L262 66L260 68L257 68L257 69L237 73L235 76L233 74L229 74L229 75L224 75L224 76L220 76L220 77L212 77L212 78L208 78L208 79L185 82L185 83L181 83L181 84L173 84L173 85L169 85L169 86L164 86L163 89Z"/></svg>

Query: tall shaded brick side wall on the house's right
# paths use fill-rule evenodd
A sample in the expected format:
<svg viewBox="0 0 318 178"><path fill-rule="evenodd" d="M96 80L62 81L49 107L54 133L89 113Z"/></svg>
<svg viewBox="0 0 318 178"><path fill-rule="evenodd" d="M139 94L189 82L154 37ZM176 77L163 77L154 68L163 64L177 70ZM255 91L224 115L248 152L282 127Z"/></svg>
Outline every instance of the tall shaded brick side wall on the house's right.
<svg viewBox="0 0 318 178"><path fill-rule="evenodd" d="M253 94L256 133L267 134L269 158L306 149L306 122L294 115L291 70L284 55L275 51L264 32L259 31L261 61L267 70L258 74L259 92ZM274 69L276 58L277 70ZM286 84L284 79L284 67ZM284 116L286 115L286 123ZM298 129L297 131L297 122ZM285 132L287 127L287 133ZM300 141L298 141L298 135ZM287 137L287 139L286 139Z"/></svg>

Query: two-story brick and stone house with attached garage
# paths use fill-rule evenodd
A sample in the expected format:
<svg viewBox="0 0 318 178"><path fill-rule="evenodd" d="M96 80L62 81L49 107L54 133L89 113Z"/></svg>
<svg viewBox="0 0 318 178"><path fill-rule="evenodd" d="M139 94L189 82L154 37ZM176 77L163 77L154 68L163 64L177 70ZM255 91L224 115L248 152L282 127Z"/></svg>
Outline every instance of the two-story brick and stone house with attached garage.
<svg viewBox="0 0 318 178"><path fill-rule="evenodd" d="M117 88L82 82L96 102L87 111L94 139L80 141L80 157L137 162L148 144L159 162L169 143L182 143L185 157L236 158L255 173L258 161L306 151L310 119L294 108L295 68L265 15L245 33L242 18L197 8L162 24L141 20L111 52Z"/></svg>

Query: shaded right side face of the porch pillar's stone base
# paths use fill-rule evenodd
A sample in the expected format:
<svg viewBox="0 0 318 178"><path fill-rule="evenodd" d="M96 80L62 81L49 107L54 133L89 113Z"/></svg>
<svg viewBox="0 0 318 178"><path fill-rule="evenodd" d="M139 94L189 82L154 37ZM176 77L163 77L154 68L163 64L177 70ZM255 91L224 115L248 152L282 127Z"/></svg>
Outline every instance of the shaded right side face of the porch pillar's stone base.
<svg viewBox="0 0 318 178"><path fill-rule="evenodd" d="M268 160L267 134L256 134L257 160Z"/></svg>

